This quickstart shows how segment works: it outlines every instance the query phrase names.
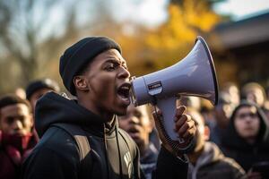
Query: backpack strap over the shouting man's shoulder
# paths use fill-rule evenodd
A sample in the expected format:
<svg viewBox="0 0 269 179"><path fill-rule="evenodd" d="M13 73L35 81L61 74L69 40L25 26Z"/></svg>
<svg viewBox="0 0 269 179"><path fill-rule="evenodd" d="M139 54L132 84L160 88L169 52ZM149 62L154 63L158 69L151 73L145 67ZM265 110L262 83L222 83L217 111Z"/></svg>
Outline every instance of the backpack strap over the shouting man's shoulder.
<svg viewBox="0 0 269 179"><path fill-rule="evenodd" d="M53 126L63 129L72 136L80 153L81 168L79 178L89 178L88 176L91 174L91 146L86 132L84 132L80 126L74 124L59 123L53 124Z"/></svg>

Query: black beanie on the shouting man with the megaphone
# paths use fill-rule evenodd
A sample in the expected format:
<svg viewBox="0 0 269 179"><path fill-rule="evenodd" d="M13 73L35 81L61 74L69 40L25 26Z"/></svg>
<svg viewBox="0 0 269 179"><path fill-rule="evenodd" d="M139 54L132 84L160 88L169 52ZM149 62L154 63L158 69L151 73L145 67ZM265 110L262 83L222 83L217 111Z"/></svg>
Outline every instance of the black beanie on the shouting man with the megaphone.
<svg viewBox="0 0 269 179"><path fill-rule="evenodd" d="M89 64L96 55L111 48L115 48L121 53L121 48L111 38L91 37L83 38L65 50L64 55L60 58L60 75L65 88L69 90L72 95L75 95L74 76L77 75L85 65Z"/></svg>

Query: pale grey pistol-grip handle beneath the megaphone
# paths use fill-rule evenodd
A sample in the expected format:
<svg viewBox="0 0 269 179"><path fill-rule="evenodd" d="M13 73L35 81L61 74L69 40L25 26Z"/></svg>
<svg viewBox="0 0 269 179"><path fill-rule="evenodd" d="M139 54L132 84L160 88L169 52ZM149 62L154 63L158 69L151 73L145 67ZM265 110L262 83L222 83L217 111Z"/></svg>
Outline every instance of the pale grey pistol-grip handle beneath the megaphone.
<svg viewBox="0 0 269 179"><path fill-rule="evenodd" d="M185 141L178 138L178 133L174 132L175 127L175 115L177 109L177 97L161 98L156 101L156 106L161 109L163 125L165 131L168 133L169 137L173 141L179 141L179 143L184 143Z"/></svg>

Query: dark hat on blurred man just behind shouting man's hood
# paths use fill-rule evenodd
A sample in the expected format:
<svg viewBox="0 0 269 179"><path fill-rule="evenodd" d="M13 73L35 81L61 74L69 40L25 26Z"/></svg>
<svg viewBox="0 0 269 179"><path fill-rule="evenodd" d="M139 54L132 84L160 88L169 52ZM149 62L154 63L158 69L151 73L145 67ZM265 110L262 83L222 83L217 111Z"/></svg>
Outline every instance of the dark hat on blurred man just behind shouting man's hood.
<svg viewBox="0 0 269 179"><path fill-rule="evenodd" d="M48 78L38 81L32 81L26 88L26 98L30 100L31 95L40 89L50 89L55 90L56 92L60 90L56 81L52 81L51 79Z"/></svg>

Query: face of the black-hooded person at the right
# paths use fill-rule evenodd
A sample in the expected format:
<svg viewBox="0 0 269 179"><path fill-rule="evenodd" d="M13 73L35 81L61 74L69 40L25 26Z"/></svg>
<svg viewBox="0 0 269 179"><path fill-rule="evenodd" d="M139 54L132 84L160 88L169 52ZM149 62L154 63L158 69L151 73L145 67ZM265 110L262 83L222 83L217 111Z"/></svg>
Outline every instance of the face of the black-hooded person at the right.
<svg viewBox="0 0 269 179"><path fill-rule="evenodd" d="M240 137L247 141L255 140L260 129L256 107L240 107L235 114L234 125Z"/></svg>

